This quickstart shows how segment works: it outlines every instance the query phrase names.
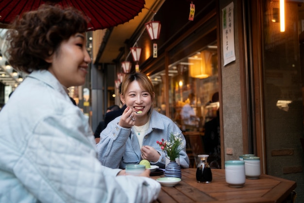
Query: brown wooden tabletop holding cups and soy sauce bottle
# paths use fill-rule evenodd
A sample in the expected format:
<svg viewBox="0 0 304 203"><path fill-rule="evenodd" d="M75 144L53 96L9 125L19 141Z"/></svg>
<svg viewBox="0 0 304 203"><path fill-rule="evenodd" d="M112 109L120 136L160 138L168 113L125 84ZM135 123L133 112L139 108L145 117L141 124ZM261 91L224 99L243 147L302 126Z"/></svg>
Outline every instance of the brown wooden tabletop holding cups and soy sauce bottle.
<svg viewBox="0 0 304 203"><path fill-rule="evenodd" d="M224 169L211 169L212 183L196 181L196 169L182 169L182 181L176 186L162 186L158 199L153 203L280 203L296 188L296 182L261 175L249 180L241 188L229 187ZM161 176L152 176L157 179Z"/></svg>

